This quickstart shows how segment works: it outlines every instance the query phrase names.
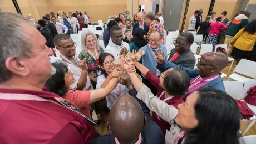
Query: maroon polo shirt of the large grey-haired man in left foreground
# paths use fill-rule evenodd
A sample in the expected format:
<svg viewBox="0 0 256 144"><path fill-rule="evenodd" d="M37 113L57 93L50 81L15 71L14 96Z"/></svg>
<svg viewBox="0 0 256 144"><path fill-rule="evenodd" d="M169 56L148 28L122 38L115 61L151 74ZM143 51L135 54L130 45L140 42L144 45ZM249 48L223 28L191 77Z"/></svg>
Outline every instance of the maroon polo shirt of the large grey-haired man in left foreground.
<svg viewBox="0 0 256 144"><path fill-rule="evenodd" d="M80 114L51 101L21 100L29 94L59 97L47 90L0 89L1 144L90 143L95 138L93 126Z"/></svg>

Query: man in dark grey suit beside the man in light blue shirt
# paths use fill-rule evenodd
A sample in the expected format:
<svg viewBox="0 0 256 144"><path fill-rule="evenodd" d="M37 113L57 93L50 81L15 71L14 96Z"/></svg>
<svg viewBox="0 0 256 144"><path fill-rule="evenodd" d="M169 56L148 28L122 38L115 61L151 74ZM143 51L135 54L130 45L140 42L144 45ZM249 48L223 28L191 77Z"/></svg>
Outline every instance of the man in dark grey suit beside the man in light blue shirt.
<svg viewBox="0 0 256 144"><path fill-rule="evenodd" d="M175 40L175 49L171 50L168 61L185 68L194 69L195 56L190 50L194 42L194 36L190 32L181 33Z"/></svg>

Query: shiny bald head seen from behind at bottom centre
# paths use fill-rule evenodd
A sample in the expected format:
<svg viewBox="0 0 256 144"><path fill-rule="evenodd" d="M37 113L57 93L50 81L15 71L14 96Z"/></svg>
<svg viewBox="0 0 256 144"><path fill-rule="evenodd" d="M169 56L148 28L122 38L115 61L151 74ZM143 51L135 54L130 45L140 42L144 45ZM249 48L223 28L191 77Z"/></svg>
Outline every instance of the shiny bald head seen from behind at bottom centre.
<svg viewBox="0 0 256 144"><path fill-rule="evenodd" d="M130 95L120 96L111 107L109 125L119 142L135 143L145 125L139 103Z"/></svg>

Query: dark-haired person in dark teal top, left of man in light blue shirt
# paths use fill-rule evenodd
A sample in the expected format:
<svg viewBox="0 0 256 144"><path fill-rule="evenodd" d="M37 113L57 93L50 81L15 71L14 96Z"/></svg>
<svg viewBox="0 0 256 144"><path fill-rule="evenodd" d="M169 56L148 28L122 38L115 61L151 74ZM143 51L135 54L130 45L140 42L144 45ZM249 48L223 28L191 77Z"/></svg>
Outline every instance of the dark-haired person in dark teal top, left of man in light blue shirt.
<svg viewBox="0 0 256 144"><path fill-rule="evenodd" d="M131 49L130 52L132 52L132 50L136 50L136 52L138 52L140 50L140 48L142 48L146 45L146 40L144 39L144 35L145 35L145 32L143 29L137 28L134 30L134 34L133 34L134 41L132 41L129 44L130 49Z"/></svg>

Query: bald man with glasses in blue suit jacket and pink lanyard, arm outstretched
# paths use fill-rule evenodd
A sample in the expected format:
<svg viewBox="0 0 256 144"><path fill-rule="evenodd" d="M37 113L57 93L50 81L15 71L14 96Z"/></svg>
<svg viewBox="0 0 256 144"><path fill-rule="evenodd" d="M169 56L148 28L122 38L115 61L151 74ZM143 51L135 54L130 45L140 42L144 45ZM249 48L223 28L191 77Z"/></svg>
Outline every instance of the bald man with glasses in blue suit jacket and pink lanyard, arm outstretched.
<svg viewBox="0 0 256 144"><path fill-rule="evenodd" d="M223 80L221 79L221 71L228 65L228 56L220 52L208 52L198 59L197 69L188 69L179 65L175 65L165 60L163 56L157 54L156 61L158 65L157 69L165 71L170 68L178 67L189 75L190 86L187 94L184 97L190 95L192 92L199 88L215 88L226 92Z"/></svg>

